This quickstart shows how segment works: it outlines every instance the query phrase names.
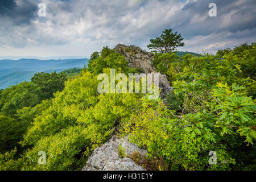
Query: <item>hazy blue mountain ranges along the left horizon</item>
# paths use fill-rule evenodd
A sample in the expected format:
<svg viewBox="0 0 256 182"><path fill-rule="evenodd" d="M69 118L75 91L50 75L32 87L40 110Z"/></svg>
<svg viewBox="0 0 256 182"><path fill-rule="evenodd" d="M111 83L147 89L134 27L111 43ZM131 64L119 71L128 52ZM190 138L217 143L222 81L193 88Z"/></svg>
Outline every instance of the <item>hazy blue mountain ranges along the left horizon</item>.
<svg viewBox="0 0 256 182"><path fill-rule="evenodd" d="M15 85L22 81L30 81L35 73L62 72L72 68L83 68L88 64L87 58L84 59L65 59L65 60L39 60L39 59L20 59L20 60L0 60L0 89L5 89L10 85Z"/></svg>

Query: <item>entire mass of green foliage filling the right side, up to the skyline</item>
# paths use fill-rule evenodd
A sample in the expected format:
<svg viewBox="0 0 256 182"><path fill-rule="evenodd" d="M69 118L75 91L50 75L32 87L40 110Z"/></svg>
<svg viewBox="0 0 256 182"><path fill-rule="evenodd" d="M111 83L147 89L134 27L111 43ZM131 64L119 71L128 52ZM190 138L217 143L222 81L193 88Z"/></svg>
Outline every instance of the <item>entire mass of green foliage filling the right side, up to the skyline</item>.
<svg viewBox="0 0 256 182"><path fill-rule="evenodd" d="M255 80L246 74L254 72L252 60L254 46L237 47L221 60L185 55L170 61L174 92L167 105L143 100L125 133L171 170L255 170ZM209 151L216 151L216 165L209 164Z"/></svg>

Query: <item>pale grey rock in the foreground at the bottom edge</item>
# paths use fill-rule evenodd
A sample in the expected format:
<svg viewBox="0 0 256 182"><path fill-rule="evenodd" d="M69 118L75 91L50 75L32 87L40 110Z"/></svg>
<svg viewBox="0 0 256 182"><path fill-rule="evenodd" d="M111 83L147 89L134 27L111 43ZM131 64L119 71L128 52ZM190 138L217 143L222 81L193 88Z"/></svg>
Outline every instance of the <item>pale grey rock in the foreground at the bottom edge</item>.
<svg viewBox="0 0 256 182"><path fill-rule="evenodd" d="M142 155L147 153L137 144L128 142L127 138L118 138L117 135L114 135L104 145L96 148L89 156L82 171L145 171L145 168L134 163L132 159L119 156L119 146L122 146L126 156L130 156L134 152L140 152Z"/></svg>

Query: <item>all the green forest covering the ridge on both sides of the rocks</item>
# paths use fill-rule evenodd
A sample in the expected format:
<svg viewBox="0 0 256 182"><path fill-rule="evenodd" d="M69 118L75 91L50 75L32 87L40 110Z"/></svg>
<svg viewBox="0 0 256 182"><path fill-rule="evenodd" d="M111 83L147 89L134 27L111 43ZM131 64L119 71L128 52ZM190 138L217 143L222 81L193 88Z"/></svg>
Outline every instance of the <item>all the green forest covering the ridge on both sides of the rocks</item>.
<svg viewBox="0 0 256 182"><path fill-rule="evenodd" d="M80 170L113 134L146 148L151 169L255 170L255 46L181 58L155 52L152 64L174 88L166 102L98 94L99 73L139 72L108 47L92 54L88 68L38 73L1 90L0 170Z"/></svg>

